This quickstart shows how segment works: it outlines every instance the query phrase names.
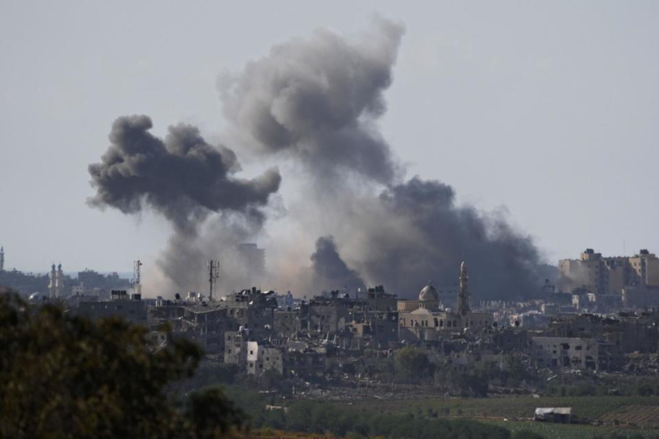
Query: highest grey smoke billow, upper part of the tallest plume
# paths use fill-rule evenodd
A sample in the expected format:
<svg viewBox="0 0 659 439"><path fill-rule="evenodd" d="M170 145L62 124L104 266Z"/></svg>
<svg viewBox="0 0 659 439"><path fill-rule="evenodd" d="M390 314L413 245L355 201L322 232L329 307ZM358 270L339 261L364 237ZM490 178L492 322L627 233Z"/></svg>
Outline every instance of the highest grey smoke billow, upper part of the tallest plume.
<svg viewBox="0 0 659 439"><path fill-rule="evenodd" d="M321 30L277 45L219 81L224 115L262 152L292 154L323 175L351 169L391 182L400 169L373 121L403 32L376 20L362 38Z"/></svg>

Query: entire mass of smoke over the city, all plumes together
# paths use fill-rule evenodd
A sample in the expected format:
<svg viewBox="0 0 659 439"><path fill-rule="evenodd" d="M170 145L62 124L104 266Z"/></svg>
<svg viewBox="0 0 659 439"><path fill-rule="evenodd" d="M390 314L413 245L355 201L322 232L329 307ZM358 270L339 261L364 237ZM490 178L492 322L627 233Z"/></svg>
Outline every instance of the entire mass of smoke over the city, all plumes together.
<svg viewBox="0 0 659 439"><path fill-rule="evenodd" d="M178 232L161 258L177 287L203 281L203 258L215 257L219 247L235 248L238 239L264 233L275 250L268 251L266 278L298 294L369 283L415 296L429 279L456 284L463 259L476 298L535 294L540 257L533 241L501 215L456 204L454 190L442 182L406 180L404 165L380 134L403 34L402 25L383 19L359 36L321 30L277 45L218 80L234 147L292 165L282 167L292 169L284 179L295 183L284 217L266 222L262 209L279 188L277 171L239 180L231 150L207 145L185 126L170 128L163 142L148 133L147 117L115 122L113 145L90 167L97 189L91 203L124 213L146 203L176 230L203 228L195 239ZM209 212L219 213L204 222ZM277 222L292 226L273 235ZM308 252L292 259L279 250L277 257L281 248ZM299 276L311 253L316 285ZM234 259L226 261L231 277L238 269Z"/></svg>

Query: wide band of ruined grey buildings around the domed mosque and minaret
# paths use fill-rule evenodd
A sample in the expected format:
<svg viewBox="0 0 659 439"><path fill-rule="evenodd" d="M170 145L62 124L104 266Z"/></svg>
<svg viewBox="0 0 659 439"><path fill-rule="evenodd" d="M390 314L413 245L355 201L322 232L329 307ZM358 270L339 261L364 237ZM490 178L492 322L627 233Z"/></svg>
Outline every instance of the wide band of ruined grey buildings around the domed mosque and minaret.
<svg viewBox="0 0 659 439"><path fill-rule="evenodd" d="M124 290L111 300L71 303L69 312L90 318L123 316L147 325L154 342L187 337L209 355L248 374L322 374L337 361L391 358L417 346L434 364L457 370L505 368L517 355L535 370L623 370L625 355L656 353L659 313L582 313L554 294L528 302L470 303L467 265L460 268L457 296L427 285L414 300L384 287L329 292L299 300L256 288L206 300L190 292L174 300L144 299Z"/></svg>

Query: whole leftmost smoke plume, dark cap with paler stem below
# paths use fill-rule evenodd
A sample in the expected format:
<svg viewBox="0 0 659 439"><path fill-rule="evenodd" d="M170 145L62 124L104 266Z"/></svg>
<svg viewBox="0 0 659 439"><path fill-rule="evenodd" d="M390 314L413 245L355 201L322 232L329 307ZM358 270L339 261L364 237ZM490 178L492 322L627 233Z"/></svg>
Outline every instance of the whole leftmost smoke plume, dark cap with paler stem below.
<svg viewBox="0 0 659 439"><path fill-rule="evenodd" d="M150 206L170 220L174 234L157 260L160 281L151 273L157 294L205 292L209 259L221 261L220 289L248 286L249 267L235 257L235 248L262 229L262 208L279 189L279 171L236 178L235 153L209 145L197 128L170 126L164 141L150 134L151 128L151 119L143 115L115 120L101 163L89 165L96 189L89 204L126 214ZM218 215L207 222L212 213Z"/></svg>

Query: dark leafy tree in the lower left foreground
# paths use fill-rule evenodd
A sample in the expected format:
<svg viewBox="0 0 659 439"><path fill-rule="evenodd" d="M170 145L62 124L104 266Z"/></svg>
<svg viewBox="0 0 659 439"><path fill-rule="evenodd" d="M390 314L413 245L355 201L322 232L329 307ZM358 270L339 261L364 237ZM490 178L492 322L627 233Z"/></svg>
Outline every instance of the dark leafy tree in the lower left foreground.
<svg viewBox="0 0 659 439"><path fill-rule="evenodd" d="M165 389L194 373L202 351L186 340L156 348L144 327L95 322L60 307L0 295L0 436L205 438L240 423L217 391L178 410ZM196 412L199 401L213 423ZM206 423L205 423L206 422Z"/></svg>

